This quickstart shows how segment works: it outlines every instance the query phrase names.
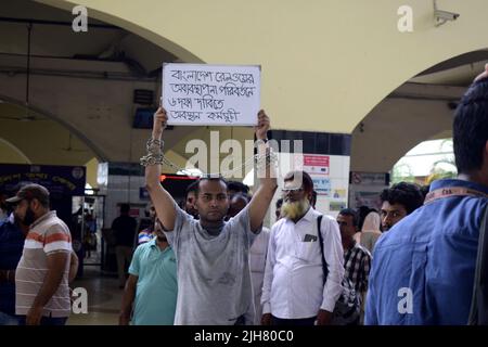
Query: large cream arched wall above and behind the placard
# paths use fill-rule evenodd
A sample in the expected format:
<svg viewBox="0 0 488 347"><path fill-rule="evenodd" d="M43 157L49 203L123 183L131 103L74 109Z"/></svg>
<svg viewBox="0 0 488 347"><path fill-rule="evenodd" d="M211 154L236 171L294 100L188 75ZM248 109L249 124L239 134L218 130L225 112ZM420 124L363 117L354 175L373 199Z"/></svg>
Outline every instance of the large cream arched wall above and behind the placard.
<svg viewBox="0 0 488 347"><path fill-rule="evenodd" d="M38 1L65 10L75 4ZM145 11L132 1L77 3L184 61L260 64L262 105L277 115L275 129L288 130L351 133L419 72L486 47L479 33L488 29L484 0L439 1L439 8L461 13L440 27L435 26L432 1L410 0L413 31L406 34L397 27L397 10L404 0L376 0L374 5L343 0L146 0Z"/></svg>

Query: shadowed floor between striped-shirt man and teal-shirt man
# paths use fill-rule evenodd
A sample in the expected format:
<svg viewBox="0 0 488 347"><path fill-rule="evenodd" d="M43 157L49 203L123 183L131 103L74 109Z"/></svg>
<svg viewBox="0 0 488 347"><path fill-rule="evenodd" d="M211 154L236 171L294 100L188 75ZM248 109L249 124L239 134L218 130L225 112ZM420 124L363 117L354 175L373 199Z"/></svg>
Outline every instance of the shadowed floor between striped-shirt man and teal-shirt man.
<svg viewBox="0 0 488 347"><path fill-rule="evenodd" d="M72 284L84 287L88 294L88 313L72 313L67 325L115 325L118 324L124 291L115 277L102 275L99 267L86 267L82 279Z"/></svg>

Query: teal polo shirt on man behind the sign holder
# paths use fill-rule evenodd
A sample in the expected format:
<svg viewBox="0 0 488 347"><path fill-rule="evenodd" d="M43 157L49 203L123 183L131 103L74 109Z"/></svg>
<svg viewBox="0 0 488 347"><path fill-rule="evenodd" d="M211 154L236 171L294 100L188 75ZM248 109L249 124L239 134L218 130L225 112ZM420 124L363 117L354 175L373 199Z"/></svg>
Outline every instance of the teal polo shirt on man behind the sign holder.
<svg viewBox="0 0 488 347"><path fill-rule="evenodd" d="M172 325L178 284L171 247L160 250L156 239L140 245L133 254L129 273L138 277L132 324Z"/></svg>

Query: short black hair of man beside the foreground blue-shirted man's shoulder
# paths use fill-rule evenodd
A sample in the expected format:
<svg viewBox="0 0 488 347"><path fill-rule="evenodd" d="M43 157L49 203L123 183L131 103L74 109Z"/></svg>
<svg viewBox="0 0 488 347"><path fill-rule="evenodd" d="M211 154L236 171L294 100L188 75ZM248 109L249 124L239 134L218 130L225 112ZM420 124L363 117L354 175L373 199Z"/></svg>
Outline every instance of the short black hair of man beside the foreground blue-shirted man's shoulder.
<svg viewBox="0 0 488 347"><path fill-rule="evenodd" d="M424 197L416 184L400 182L383 190L380 195L382 203L403 205L407 215L410 215L415 209L422 206Z"/></svg>

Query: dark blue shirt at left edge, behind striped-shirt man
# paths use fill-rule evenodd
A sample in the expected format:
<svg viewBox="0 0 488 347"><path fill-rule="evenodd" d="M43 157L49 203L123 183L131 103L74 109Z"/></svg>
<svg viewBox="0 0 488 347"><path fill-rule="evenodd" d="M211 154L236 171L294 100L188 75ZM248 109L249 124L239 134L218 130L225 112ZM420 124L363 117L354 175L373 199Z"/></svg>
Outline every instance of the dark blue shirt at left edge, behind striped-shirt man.
<svg viewBox="0 0 488 347"><path fill-rule="evenodd" d="M22 230L5 219L0 222L0 269L15 271L24 249ZM0 312L15 314L15 284L0 283Z"/></svg>

